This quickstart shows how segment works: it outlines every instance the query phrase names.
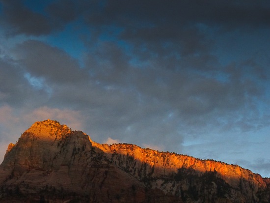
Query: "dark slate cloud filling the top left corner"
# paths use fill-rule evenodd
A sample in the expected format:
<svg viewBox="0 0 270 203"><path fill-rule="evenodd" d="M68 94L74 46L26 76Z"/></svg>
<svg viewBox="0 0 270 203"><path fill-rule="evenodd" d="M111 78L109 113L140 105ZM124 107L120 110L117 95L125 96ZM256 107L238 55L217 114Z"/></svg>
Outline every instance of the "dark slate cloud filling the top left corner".
<svg viewBox="0 0 270 203"><path fill-rule="evenodd" d="M39 11L33 10L32 2L27 0L0 0L0 2L2 3L2 24L9 29L8 35L47 35L63 29L85 8L89 8L83 0L76 3L71 0L58 0L46 3Z"/></svg>

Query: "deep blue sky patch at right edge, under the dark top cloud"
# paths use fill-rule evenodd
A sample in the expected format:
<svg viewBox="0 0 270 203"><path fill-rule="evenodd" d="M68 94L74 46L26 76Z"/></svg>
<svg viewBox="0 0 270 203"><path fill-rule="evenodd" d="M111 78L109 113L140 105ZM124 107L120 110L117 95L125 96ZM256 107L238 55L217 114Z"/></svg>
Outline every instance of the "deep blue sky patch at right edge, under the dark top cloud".
<svg viewBox="0 0 270 203"><path fill-rule="evenodd" d="M212 52L218 58L222 67L230 64L239 66L245 69L244 78L256 80L256 83L265 85L265 81L257 80L259 69L262 73L270 76L269 57L270 57L270 29L259 29L246 33L240 31L227 32L218 35L216 45ZM261 77L264 77L261 74ZM227 81L228 75L222 74L218 79ZM269 85L269 84L268 84Z"/></svg>

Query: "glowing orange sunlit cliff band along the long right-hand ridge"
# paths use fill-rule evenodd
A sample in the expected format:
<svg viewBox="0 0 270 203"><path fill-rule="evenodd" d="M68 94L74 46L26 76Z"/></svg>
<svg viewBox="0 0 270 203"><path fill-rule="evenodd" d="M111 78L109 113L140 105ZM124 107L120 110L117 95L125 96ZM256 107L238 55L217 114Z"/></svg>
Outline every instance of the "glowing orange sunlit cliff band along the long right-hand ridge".
<svg viewBox="0 0 270 203"><path fill-rule="evenodd" d="M229 165L214 160L201 160L187 155L159 152L152 149L143 149L131 144L99 145L94 143L93 146L104 150L108 154L108 157L116 161L115 154L120 157L126 157L126 159L133 157L141 163L146 163L149 168L148 170L153 170L153 176L177 174L179 169L186 168L199 173L216 172L219 177L236 187L239 186L241 178L252 180L256 185L266 187L266 183L260 175L253 174L251 171L237 165ZM118 164L121 165L121 163ZM129 166L123 164L122 167Z"/></svg>

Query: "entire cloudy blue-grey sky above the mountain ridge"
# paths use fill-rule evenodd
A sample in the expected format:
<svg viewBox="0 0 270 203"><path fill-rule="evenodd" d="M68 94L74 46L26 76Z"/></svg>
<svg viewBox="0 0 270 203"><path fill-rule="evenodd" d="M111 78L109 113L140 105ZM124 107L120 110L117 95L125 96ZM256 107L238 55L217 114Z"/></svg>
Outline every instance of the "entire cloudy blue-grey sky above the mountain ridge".
<svg viewBox="0 0 270 203"><path fill-rule="evenodd" d="M0 160L35 121L270 177L269 0L0 0Z"/></svg>

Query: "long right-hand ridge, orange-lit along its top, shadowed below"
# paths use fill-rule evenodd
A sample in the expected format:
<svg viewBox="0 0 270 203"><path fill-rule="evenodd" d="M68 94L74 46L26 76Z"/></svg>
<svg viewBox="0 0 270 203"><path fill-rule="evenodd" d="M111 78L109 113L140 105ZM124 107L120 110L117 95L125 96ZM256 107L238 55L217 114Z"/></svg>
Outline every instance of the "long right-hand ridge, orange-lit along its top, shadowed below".
<svg viewBox="0 0 270 203"><path fill-rule="evenodd" d="M131 144L102 145L108 158L148 188L159 188L185 202L269 202L266 179L259 174L214 160L158 152Z"/></svg>

